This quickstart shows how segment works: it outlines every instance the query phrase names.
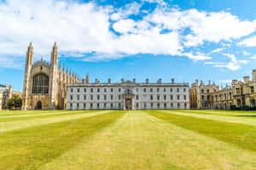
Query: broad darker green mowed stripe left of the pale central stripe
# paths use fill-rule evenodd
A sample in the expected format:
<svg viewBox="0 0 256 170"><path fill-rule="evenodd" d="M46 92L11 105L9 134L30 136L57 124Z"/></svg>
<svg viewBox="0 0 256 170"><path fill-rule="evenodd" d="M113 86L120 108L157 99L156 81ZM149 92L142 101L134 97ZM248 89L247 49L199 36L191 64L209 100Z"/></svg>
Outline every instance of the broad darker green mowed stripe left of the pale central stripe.
<svg viewBox="0 0 256 170"><path fill-rule="evenodd" d="M38 169L121 116L123 113L111 111L103 115L1 133L0 169Z"/></svg>

